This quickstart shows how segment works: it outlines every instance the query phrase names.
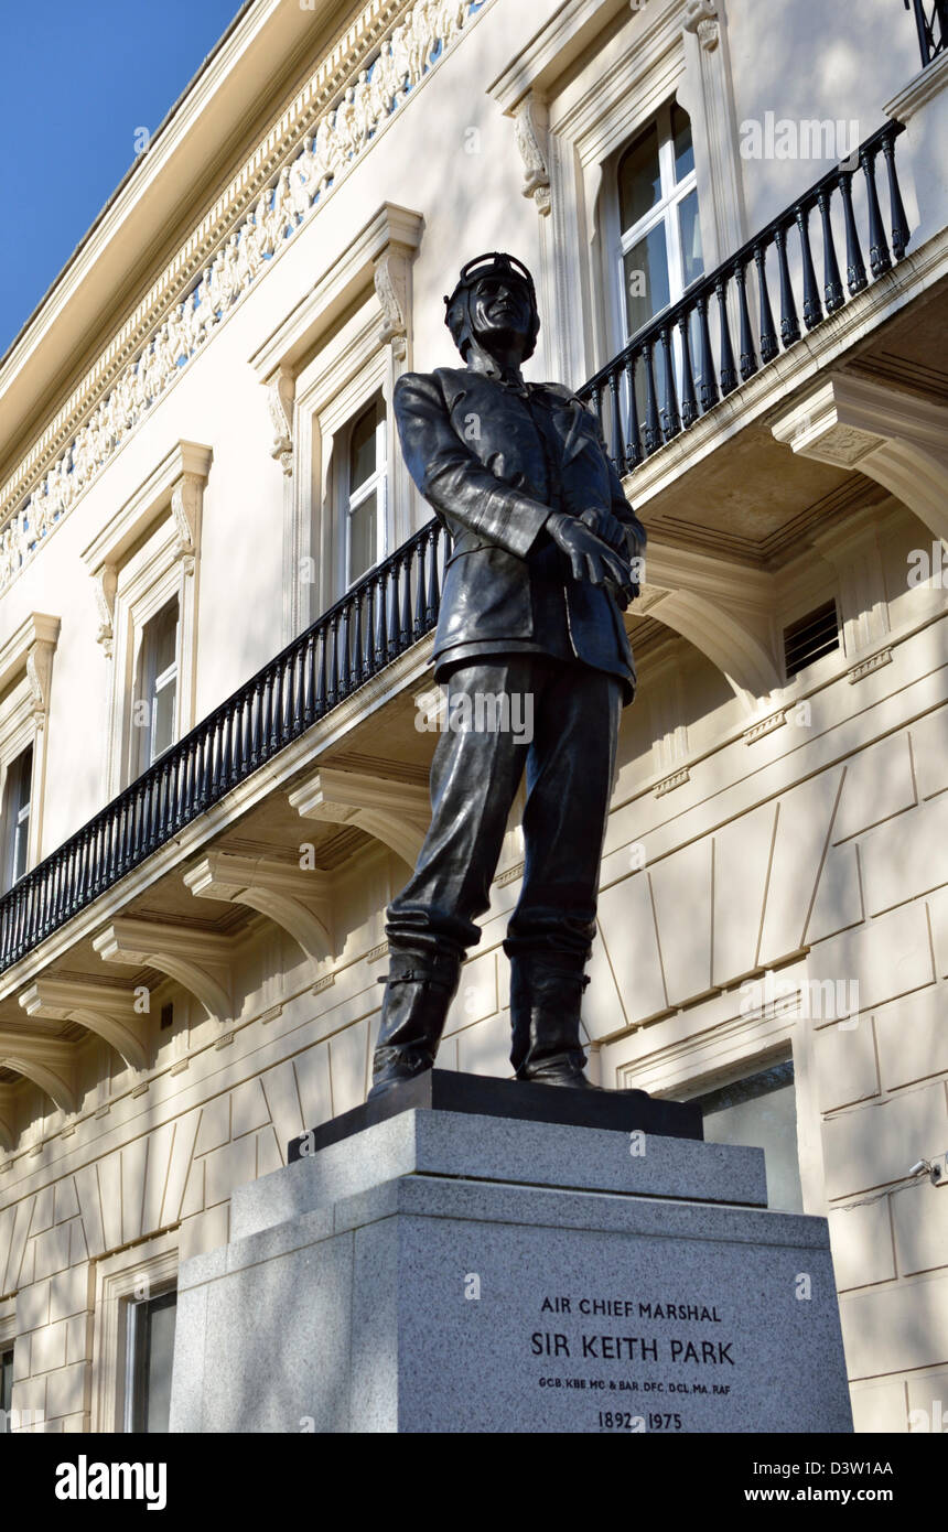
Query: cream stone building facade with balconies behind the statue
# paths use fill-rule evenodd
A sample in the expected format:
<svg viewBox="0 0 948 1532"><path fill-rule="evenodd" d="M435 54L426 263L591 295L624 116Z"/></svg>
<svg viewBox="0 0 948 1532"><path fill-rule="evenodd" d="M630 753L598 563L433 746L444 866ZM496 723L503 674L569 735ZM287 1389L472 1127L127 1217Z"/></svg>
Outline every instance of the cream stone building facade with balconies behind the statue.
<svg viewBox="0 0 948 1532"><path fill-rule="evenodd" d="M447 723L392 389L495 248L649 530L591 1074L766 1147L856 1429L943 1429L943 25L254 0L2 360L8 1429L165 1429L179 1262L364 1098ZM521 875L440 1066L508 1072Z"/></svg>

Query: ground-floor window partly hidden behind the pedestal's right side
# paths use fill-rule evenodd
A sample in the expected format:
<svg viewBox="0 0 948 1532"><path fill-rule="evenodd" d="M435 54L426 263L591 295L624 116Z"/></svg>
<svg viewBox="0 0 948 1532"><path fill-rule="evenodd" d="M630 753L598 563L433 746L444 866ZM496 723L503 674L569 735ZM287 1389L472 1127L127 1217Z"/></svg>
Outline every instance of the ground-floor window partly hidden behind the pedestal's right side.
<svg viewBox="0 0 948 1532"><path fill-rule="evenodd" d="M694 1097L704 1117L704 1138L712 1144L755 1144L764 1151L767 1204L786 1213L803 1212L796 1154L796 1089L793 1060L773 1063L731 1085Z"/></svg>

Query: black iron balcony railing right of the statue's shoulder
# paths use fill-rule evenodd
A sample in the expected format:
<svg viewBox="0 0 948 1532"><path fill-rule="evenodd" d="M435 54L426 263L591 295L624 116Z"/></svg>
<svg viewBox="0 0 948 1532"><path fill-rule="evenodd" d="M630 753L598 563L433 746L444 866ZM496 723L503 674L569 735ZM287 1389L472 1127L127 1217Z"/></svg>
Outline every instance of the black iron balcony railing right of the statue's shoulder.
<svg viewBox="0 0 948 1532"><path fill-rule="evenodd" d="M579 389L602 423L610 452L620 472L629 473L695 420L732 394L799 340L799 313L792 265L803 288L803 322L815 329L827 314L847 302L836 257L833 216L845 233L845 277L855 297L868 286L853 178L861 172L865 195L868 260L873 277L890 271L908 244L908 224L894 146L905 129L887 123L858 152L858 165L836 165L760 234L729 256L717 271L695 282L688 294L639 329L623 351ZM882 155L888 179L891 251L885 236L876 161ZM813 262L810 216L819 211L822 244L822 291ZM790 236L796 230L796 248ZM767 254L776 253L780 283L780 334L773 320ZM792 256L795 257L792 260ZM752 291L749 291L752 290ZM712 314L711 309L715 309ZM757 322L752 320L752 308ZM732 342L737 322L738 357ZM757 332L755 332L757 331ZM714 332L714 334L712 334Z"/></svg>

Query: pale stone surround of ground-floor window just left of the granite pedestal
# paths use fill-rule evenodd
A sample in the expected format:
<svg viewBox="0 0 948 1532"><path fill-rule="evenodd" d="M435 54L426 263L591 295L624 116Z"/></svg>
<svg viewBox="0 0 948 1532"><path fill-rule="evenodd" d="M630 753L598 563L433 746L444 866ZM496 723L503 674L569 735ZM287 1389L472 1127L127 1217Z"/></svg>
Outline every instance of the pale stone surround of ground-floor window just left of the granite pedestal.
<svg viewBox="0 0 948 1532"><path fill-rule="evenodd" d="M165 1233L95 1264L92 1431L124 1432L127 1305L156 1298L178 1279L178 1235Z"/></svg>

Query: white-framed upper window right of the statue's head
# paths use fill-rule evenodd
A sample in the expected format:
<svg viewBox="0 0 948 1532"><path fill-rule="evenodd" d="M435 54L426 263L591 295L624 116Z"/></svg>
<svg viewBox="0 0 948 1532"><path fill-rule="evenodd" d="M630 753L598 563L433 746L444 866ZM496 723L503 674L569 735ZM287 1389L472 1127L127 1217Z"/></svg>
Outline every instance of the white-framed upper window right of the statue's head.
<svg viewBox="0 0 948 1532"><path fill-rule="evenodd" d="M704 273L691 119L677 101L620 153L616 196L628 340Z"/></svg>

